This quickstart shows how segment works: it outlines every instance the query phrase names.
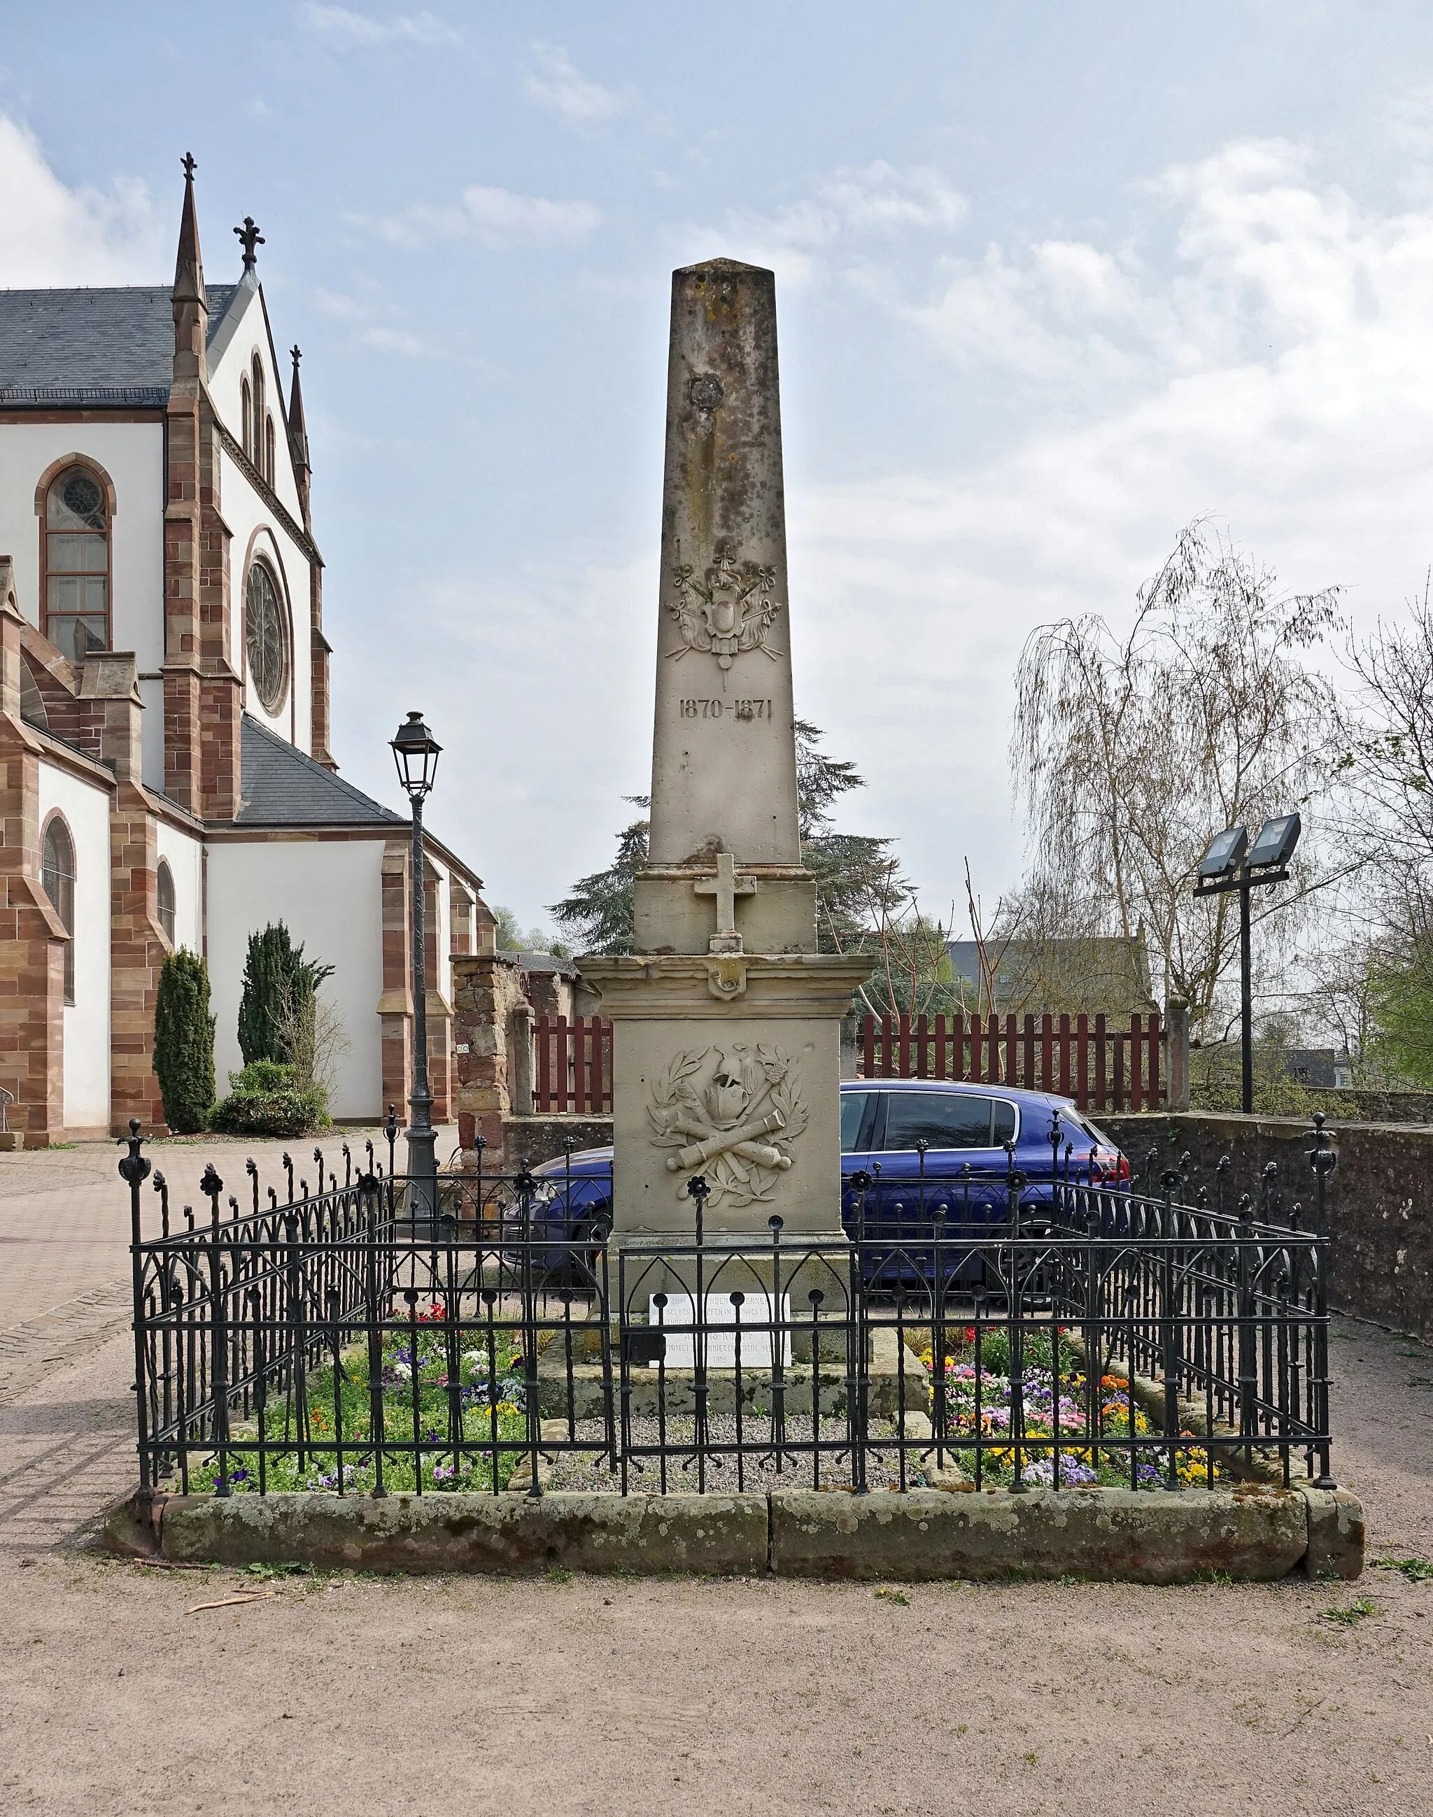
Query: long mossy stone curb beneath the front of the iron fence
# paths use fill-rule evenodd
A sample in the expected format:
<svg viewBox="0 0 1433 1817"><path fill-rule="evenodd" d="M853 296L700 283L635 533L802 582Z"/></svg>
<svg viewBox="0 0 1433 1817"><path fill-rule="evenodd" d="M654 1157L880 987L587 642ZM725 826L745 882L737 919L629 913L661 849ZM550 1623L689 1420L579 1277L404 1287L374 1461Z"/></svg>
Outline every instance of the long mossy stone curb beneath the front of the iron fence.
<svg viewBox="0 0 1433 1817"><path fill-rule="evenodd" d="M213 1495L116 1503L113 1552L375 1572L693 1572L1191 1583L1358 1577L1348 1490L909 1490L851 1495Z"/></svg>

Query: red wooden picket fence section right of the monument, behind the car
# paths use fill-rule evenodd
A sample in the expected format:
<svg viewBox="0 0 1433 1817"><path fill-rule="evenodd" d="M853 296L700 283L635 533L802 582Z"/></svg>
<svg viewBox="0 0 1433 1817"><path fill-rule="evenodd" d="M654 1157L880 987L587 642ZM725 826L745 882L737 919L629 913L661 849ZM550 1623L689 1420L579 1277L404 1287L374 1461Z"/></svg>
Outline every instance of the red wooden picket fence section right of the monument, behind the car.
<svg viewBox="0 0 1433 1817"><path fill-rule="evenodd" d="M1155 1110L1167 1101L1166 1030L1157 1014L866 1016L867 1079L971 1079L1073 1097L1080 1110Z"/></svg>

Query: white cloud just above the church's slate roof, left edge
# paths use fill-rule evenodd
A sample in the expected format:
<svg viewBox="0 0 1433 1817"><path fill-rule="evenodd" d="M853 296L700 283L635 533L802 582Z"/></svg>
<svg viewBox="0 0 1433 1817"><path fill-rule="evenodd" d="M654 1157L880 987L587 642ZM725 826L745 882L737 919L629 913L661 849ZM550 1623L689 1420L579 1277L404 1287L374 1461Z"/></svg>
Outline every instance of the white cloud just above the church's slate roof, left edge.
<svg viewBox="0 0 1433 1817"><path fill-rule="evenodd" d="M178 187L178 180L176 180ZM155 283L165 273L165 233L144 184L69 189L35 134L0 114L0 287ZM175 204L173 231L178 229ZM167 253L173 269L173 245Z"/></svg>

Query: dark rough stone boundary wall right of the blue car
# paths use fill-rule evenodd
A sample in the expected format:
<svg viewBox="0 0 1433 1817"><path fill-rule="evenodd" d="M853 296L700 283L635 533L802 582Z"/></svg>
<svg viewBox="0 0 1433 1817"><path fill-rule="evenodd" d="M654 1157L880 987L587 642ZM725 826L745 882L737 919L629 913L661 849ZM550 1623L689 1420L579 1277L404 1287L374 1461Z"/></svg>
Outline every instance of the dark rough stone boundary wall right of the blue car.
<svg viewBox="0 0 1433 1817"><path fill-rule="evenodd" d="M1284 1205L1313 1216L1309 1125L1300 1117L1100 1116L1138 1176L1151 1148L1157 1174L1187 1150L1195 1181L1213 1181L1218 1157L1233 1159L1233 1190L1257 1192L1268 1161L1278 1163ZM1338 1165L1329 1176L1333 1277L1340 1312L1433 1337L1433 1128L1406 1123L1331 1125Z"/></svg>

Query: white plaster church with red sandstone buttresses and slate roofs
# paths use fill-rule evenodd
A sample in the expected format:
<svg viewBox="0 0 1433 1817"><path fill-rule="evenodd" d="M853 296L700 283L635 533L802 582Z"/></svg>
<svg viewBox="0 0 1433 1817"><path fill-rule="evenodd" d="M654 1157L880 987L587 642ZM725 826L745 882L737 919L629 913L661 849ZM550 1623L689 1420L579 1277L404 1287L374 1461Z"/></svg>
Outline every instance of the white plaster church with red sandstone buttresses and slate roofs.
<svg viewBox="0 0 1433 1817"><path fill-rule="evenodd" d="M164 1128L178 947L207 959L222 1096L249 936L280 919L335 968L335 1117L409 1090L409 821L329 750L298 349L286 398L264 242L235 233L238 282L205 283L185 158L173 289L0 291L0 1108L27 1147ZM435 1121L480 889L429 838Z"/></svg>

